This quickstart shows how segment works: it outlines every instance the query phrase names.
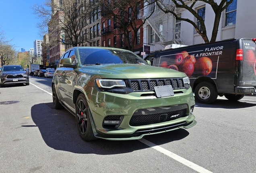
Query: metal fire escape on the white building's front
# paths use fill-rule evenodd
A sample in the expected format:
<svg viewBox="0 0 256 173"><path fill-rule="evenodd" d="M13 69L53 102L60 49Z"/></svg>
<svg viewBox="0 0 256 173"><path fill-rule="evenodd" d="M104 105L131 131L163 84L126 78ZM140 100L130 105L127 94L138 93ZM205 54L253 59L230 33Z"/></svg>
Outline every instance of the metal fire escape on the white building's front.
<svg viewBox="0 0 256 173"><path fill-rule="evenodd" d="M155 12L149 17L154 9ZM170 27L172 24L169 24L167 14L160 10L156 4L145 6L140 10L139 15L140 19L147 20L148 24L158 36L159 40L155 40L158 44L159 42L165 46L168 44L184 44L182 37L178 33L180 31L175 32L175 28Z"/></svg>

